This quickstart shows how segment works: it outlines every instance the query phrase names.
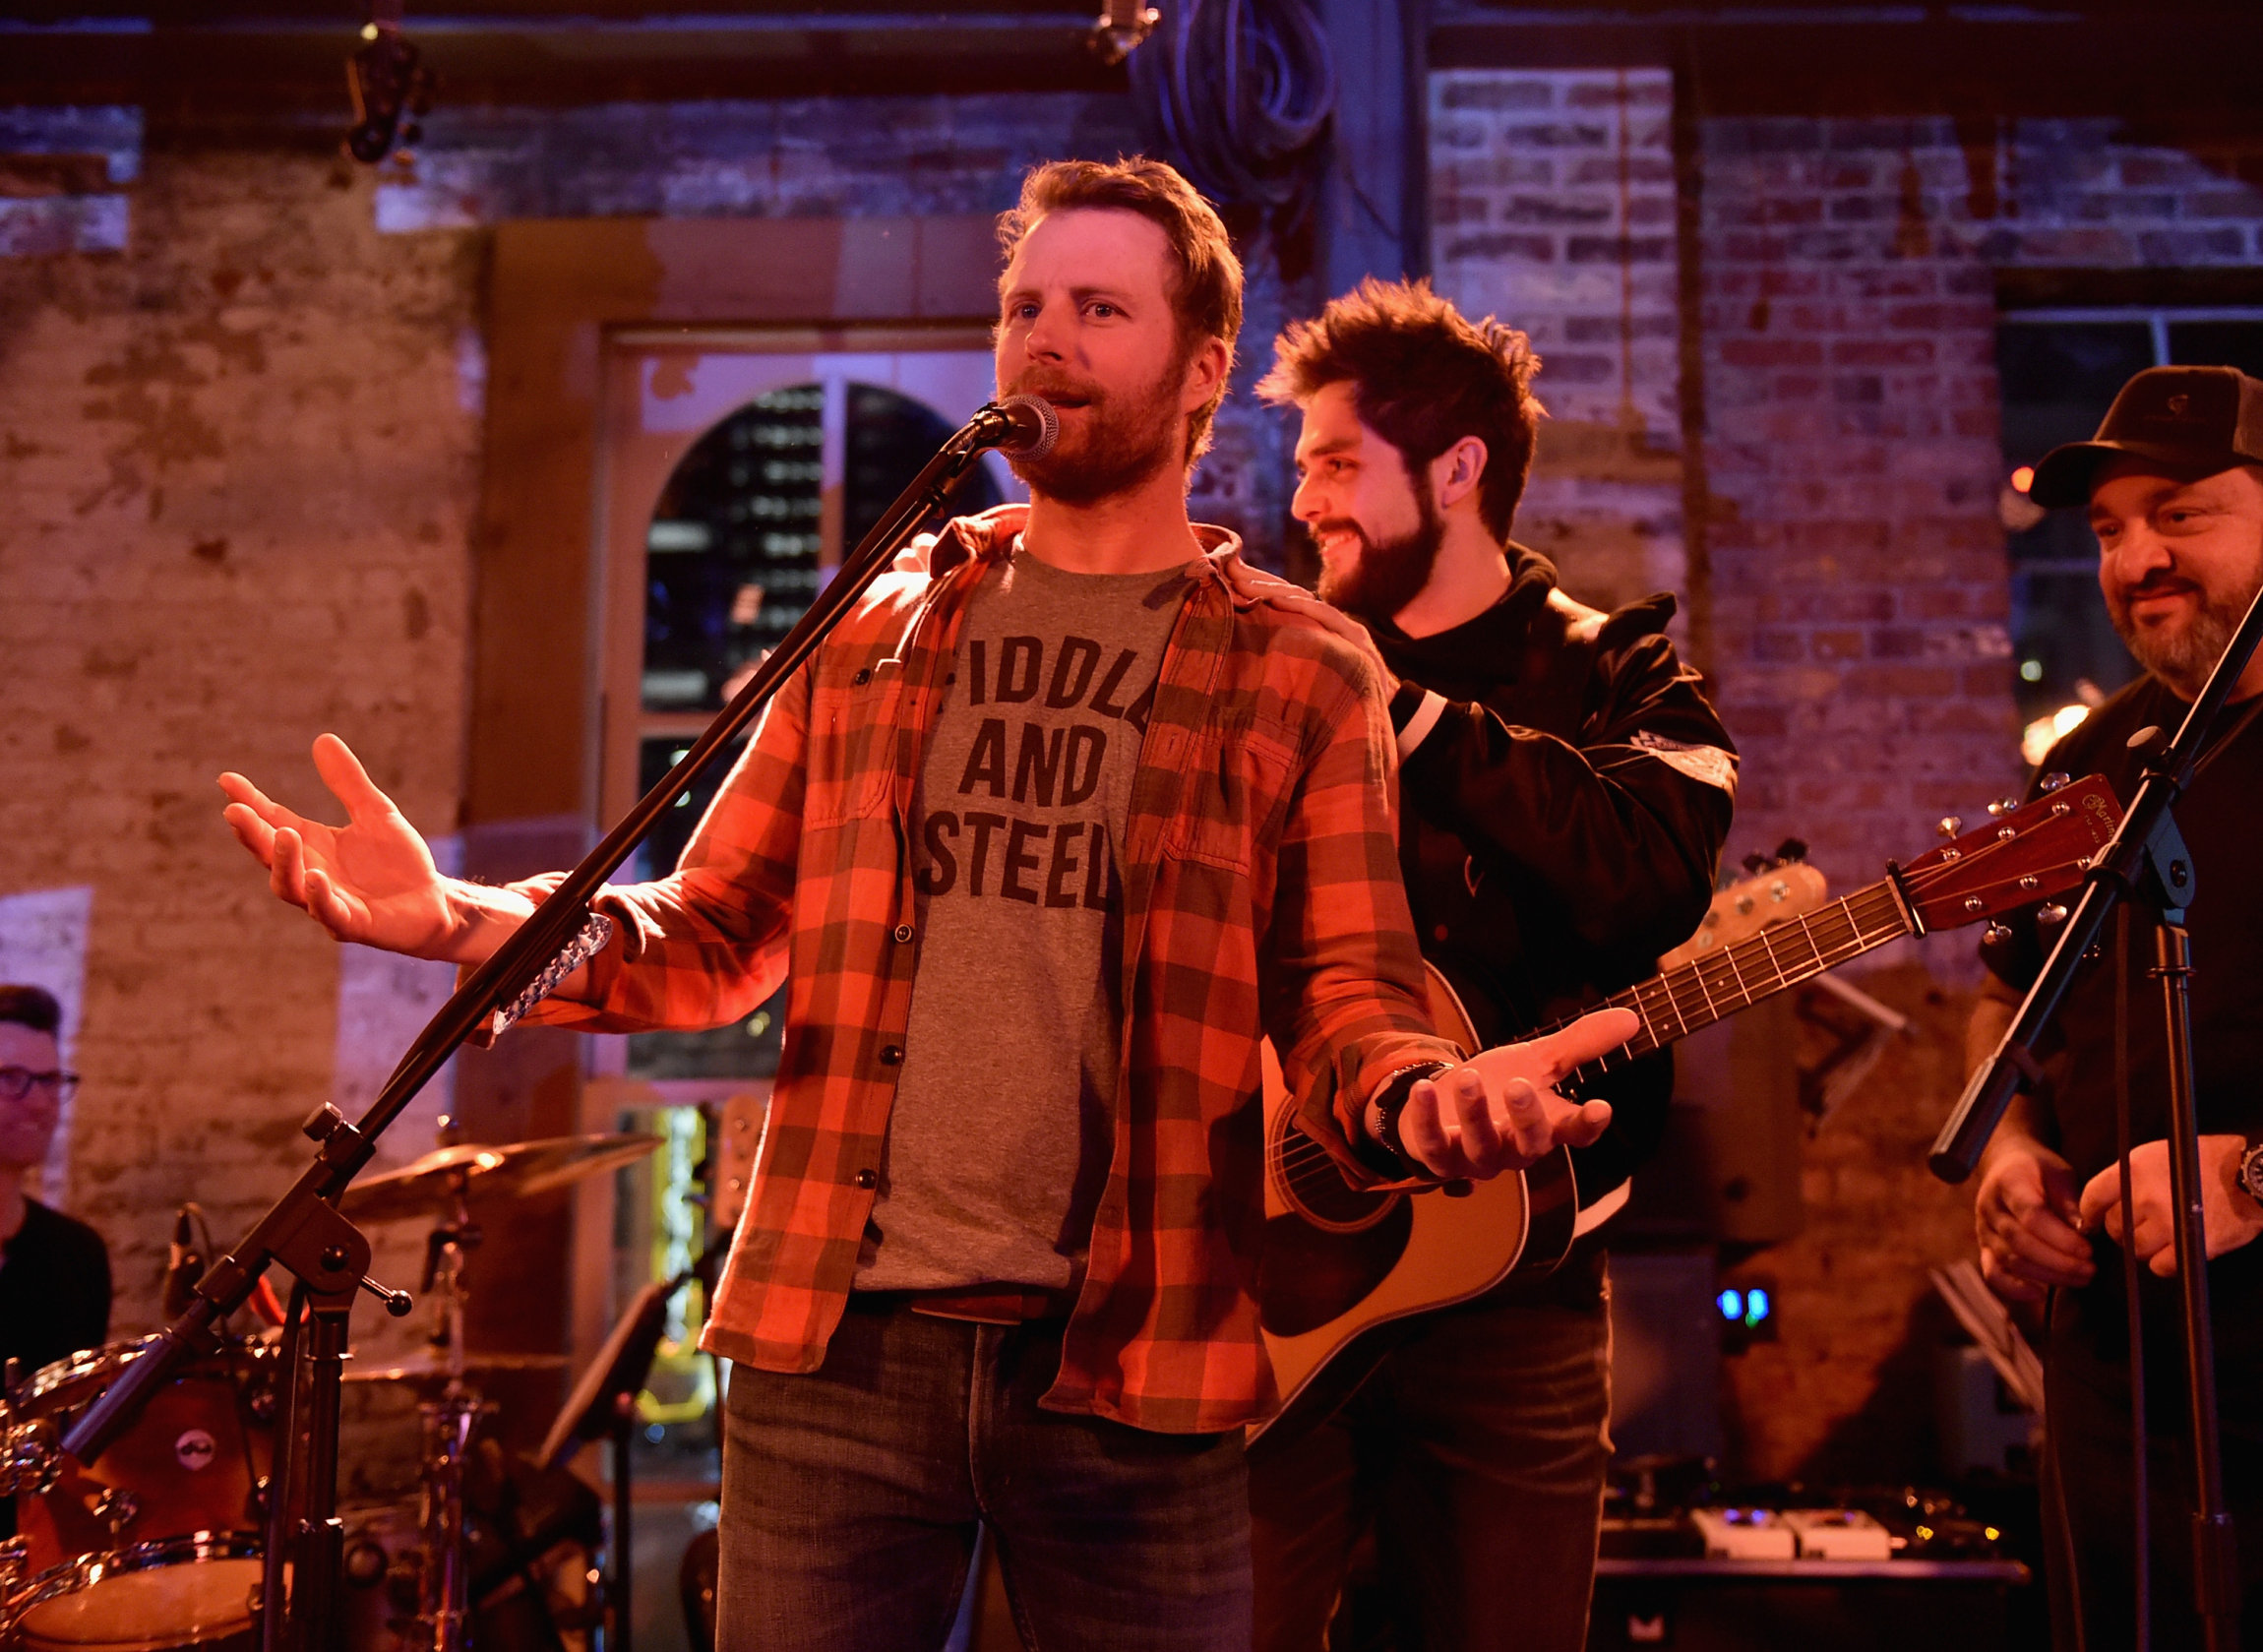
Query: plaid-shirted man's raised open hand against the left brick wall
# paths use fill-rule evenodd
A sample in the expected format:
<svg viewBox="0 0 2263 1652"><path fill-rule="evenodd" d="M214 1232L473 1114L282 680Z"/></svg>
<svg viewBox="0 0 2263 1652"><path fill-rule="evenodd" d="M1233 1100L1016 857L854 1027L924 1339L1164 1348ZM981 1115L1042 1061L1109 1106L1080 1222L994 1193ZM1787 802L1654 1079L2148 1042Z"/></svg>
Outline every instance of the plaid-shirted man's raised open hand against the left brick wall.
<svg viewBox="0 0 2263 1652"><path fill-rule="evenodd" d="M335 733L315 740L315 769L346 806L344 826L294 815L242 774L220 776L222 819L267 867L269 887L342 941L466 962L450 880L425 840Z"/></svg>

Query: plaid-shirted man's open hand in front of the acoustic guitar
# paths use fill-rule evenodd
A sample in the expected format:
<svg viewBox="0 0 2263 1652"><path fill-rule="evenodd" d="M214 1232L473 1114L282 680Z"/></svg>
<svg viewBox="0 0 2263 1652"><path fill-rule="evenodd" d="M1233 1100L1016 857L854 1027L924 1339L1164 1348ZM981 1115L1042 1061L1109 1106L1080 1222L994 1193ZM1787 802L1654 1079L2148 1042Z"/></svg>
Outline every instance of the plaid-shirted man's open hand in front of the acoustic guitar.
<svg viewBox="0 0 2263 1652"><path fill-rule="evenodd" d="M1557 1147L1586 1147L1609 1127L1611 1104L1573 1102L1555 1086L1641 1025L1632 1009L1595 1009L1530 1043L1485 1050L1414 1086L1399 1113L1399 1141L1446 1181L1482 1181L1525 1170Z"/></svg>

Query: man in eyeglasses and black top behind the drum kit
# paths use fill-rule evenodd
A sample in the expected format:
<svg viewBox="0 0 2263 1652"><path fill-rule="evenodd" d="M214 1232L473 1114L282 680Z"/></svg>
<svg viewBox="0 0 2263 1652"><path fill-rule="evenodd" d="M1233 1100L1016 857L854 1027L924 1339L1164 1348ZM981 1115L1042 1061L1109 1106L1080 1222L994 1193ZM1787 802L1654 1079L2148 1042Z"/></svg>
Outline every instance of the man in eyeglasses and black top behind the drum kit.
<svg viewBox="0 0 2263 1652"><path fill-rule="evenodd" d="M63 1098L54 993L0 987L0 1358L29 1376L97 1346L111 1328L111 1254L86 1222L25 1197L23 1177L48 1159Z"/></svg>

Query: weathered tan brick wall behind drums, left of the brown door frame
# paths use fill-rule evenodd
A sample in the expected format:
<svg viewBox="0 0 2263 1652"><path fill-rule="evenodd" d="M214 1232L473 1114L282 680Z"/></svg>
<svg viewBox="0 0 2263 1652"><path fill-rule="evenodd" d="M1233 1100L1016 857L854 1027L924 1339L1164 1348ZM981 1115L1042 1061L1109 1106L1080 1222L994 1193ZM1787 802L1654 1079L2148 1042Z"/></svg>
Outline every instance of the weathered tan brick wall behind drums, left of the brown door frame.
<svg viewBox="0 0 2263 1652"><path fill-rule="evenodd" d="M339 948L213 776L312 808L337 729L414 819L457 812L475 244L371 204L326 161L152 152L122 253L0 263L0 892L95 892L61 1197L124 1333L172 1206L242 1231L333 1086Z"/></svg>

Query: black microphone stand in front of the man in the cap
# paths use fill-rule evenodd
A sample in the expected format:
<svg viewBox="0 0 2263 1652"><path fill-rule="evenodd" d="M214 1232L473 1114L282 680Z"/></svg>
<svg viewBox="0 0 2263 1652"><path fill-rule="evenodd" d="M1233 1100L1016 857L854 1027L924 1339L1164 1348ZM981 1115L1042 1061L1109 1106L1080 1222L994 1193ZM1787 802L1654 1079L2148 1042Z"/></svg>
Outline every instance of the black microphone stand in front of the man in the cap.
<svg viewBox="0 0 2263 1652"><path fill-rule="evenodd" d="M2012 1095L2041 1082L2037 1043L2050 1030L2084 955L2105 930L2107 914L2129 901L2154 917L2161 1009L2168 1025L2168 1179L2177 1206L2175 1256L2184 1310L2186 1401L2193 1419L2193 1591L2209 1652L2238 1647L2238 1566L2231 1512L2225 1505L2222 1444L2215 1419L2215 1333L2209 1319L2206 1224L2200 1181L2200 1120L2193 1100L2193 939L2184 912L2193 901L2193 855L2184 846L2170 806L2193 778L2234 683L2263 640L2263 593L2247 604L2247 618L2215 663L2175 740L2159 745L2145 765L2120 831L2091 862L2082 898L2059 928L2059 939L2028 989L1996 1052L1973 1070L1955 1113L1942 1125L1928 1159L1942 1181L1964 1181L1996 1134ZM2125 1236L2127 1245L2129 1238ZM2132 1349L2136 1356L2136 1349ZM2143 1430L2145 1419L2132 1419ZM2139 1564L2148 1564L2139 1555Z"/></svg>

